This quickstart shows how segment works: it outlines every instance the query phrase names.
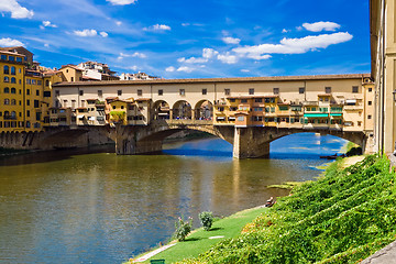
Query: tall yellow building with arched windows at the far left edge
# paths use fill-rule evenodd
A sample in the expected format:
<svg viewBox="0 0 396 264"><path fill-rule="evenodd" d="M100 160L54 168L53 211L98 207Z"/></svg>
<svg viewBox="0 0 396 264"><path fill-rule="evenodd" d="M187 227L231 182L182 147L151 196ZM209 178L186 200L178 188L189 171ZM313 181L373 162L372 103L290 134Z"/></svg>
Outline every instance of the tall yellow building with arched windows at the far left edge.
<svg viewBox="0 0 396 264"><path fill-rule="evenodd" d="M24 55L0 51L0 131L24 131Z"/></svg>

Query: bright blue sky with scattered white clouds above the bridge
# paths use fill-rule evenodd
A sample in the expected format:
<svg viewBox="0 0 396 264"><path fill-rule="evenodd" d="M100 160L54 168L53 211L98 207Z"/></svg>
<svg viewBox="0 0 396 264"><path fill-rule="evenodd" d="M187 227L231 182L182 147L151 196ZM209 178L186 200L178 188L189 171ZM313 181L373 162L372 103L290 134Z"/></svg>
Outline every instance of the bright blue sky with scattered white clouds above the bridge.
<svg viewBox="0 0 396 264"><path fill-rule="evenodd" d="M0 46L164 78L370 73L369 0L0 0Z"/></svg>

